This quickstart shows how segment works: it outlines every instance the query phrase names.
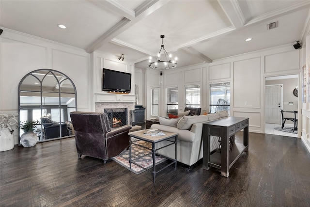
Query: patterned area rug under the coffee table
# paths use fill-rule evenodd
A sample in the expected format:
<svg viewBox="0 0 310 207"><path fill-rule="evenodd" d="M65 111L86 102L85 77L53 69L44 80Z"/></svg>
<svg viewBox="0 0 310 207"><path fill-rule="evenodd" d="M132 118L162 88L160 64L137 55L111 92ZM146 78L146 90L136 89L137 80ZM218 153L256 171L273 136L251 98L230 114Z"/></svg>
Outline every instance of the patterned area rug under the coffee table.
<svg viewBox="0 0 310 207"><path fill-rule="evenodd" d="M142 140L140 140L136 143L152 149L151 143L147 143L147 142L144 142ZM150 169L153 167L153 158L152 158L152 154L150 154L150 153L151 153L150 150L147 150L147 149L144 149L143 147L136 146L136 145L132 144L131 159L134 160L134 159L139 158L139 159L134 160L134 161L146 169ZM114 161L116 161L117 163L119 163L120 165L124 166L125 168L127 168L128 170L132 171L133 173L135 173L137 175L145 171L143 168L140 168L135 164L131 165L131 169L129 168L129 150L127 150L127 149L125 149L118 156L111 158L111 159L113 159ZM159 163L165 161L166 159L167 158L164 158L161 156L156 156L155 163L159 164Z"/></svg>

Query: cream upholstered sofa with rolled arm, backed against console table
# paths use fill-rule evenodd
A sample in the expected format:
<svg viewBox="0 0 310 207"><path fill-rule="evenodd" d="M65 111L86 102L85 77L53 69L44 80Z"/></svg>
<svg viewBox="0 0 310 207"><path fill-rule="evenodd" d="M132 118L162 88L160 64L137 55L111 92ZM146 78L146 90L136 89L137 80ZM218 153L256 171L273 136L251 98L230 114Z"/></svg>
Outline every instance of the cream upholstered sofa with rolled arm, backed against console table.
<svg viewBox="0 0 310 207"><path fill-rule="evenodd" d="M227 116L227 111L217 111L217 113L207 115L183 116L174 119L158 117L160 124L153 124L151 128L178 133L177 161L191 166L203 156L202 124ZM156 148L168 143L169 141L156 143ZM218 137L211 136L211 152L218 146ZM174 144L158 150L157 154L174 159Z"/></svg>

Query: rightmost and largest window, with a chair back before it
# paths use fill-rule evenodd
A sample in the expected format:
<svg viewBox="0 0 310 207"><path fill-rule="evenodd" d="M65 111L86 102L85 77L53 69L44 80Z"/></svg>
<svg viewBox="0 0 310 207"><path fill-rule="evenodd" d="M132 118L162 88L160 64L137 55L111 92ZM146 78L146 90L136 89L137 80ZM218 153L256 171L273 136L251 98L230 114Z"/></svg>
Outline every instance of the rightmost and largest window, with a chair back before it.
<svg viewBox="0 0 310 207"><path fill-rule="evenodd" d="M230 111L230 83L210 84L210 112Z"/></svg>

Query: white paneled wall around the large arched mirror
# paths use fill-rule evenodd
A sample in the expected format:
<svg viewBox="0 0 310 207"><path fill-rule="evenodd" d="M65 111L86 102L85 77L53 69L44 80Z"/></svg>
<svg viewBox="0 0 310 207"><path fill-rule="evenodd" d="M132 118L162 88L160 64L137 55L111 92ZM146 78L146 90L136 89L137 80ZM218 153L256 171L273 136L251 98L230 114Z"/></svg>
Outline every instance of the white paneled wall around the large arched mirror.
<svg viewBox="0 0 310 207"><path fill-rule="evenodd" d="M1 34L0 111L18 112L18 83L37 69L67 75L77 88L78 110L90 111L90 54L79 48L6 29ZM14 132L18 143L17 130Z"/></svg>

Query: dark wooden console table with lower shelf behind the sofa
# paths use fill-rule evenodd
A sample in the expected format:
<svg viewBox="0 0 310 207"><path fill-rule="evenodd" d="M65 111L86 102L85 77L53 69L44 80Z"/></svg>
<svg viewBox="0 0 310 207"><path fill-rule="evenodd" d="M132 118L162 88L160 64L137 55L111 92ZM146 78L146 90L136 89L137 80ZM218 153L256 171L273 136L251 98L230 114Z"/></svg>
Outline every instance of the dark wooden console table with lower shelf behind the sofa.
<svg viewBox="0 0 310 207"><path fill-rule="evenodd" d="M243 143L232 143L234 134L243 129ZM221 175L228 177L233 163L246 151L248 152L248 118L233 117L217 119L203 123L203 169L209 167L220 169ZM221 137L221 150L210 154L210 136Z"/></svg>

